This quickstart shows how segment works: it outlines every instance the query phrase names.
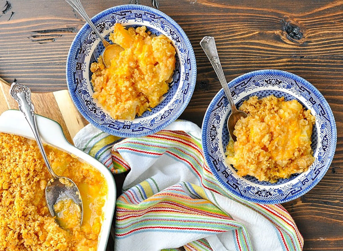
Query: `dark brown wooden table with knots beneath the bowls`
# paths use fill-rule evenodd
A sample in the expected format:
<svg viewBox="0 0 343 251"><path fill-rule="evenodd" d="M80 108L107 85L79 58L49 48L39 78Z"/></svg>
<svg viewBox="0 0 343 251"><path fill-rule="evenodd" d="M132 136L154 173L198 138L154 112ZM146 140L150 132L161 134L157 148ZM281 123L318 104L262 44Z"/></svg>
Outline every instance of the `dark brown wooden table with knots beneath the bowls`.
<svg viewBox="0 0 343 251"><path fill-rule="evenodd" d="M93 16L129 0L82 2ZM140 2L151 6L151 0ZM343 2L159 3L159 9L184 29L197 58L196 90L180 118L201 126L207 106L221 88L199 46L205 35L216 38L228 81L253 70L279 69L305 78L326 97L338 131L334 160L314 189L284 206L304 236L304 250L343 250ZM0 0L0 8L0 77L8 82L16 78L36 92L66 88L66 58L85 23L81 17L63 0Z"/></svg>

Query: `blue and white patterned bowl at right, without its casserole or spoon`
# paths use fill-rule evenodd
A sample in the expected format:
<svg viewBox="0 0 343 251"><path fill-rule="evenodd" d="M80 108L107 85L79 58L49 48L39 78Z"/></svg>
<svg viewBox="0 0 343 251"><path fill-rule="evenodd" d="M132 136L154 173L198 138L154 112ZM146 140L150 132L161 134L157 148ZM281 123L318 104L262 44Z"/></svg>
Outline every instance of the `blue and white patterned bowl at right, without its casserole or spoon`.
<svg viewBox="0 0 343 251"><path fill-rule="evenodd" d="M328 102L305 79L285 71L260 70L246 73L228 83L237 107L251 96L274 95L285 100L296 99L316 117L312 131L315 162L302 174L276 183L259 181L252 176L239 177L225 163L229 140L226 122L231 113L228 100L221 89L212 99L202 123L202 147L207 165L216 179L229 192L245 200L276 204L294 200L312 189L326 174L336 149L336 124Z"/></svg>

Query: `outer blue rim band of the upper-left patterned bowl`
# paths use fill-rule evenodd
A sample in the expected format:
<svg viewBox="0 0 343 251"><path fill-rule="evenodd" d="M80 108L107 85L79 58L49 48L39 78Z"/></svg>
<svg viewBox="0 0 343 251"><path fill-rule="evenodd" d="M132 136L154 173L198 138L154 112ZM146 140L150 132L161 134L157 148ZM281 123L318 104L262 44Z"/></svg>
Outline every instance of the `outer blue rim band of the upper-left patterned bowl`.
<svg viewBox="0 0 343 251"><path fill-rule="evenodd" d="M196 63L196 57L195 57L195 54L194 54L194 50L193 50L193 47L192 47L192 44L188 38L188 36L186 35L186 33L184 32L184 30L180 27L180 25L174 20L172 19L170 16L168 16L167 14L163 13L162 11L159 11L157 9L154 9L154 8L151 8L149 6L145 6L145 5L140 5L140 4L122 4L122 5L117 5L117 6L114 6L114 7L110 7L106 10L103 10L102 12L99 12L98 14L96 14L95 16L93 16L91 18L92 22L95 22L95 20L98 20L100 19L101 17L105 16L105 15L108 15L109 13L111 12L114 12L114 11L119 11L120 9L127 9L127 10L130 10L130 9L135 9L135 10L147 10L147 11L151 11L153 13L156 13L158 15L161 15L162 17L164 17L166 20L168 20L172 25L174 25L178 31L181 33L182 37L184 38L185 40L185 43L187 45L187 48L188 48L188 51L189 51L189 57L192 60L192 62L190 63L191 64L191 67L192 67L192 75L189 76L189 95L186 96L185 98L185 101L184 103L182 104L182 106L178 109L178 111L175 113L174 116L170 117L168 120L165 121L165 123L159 125L158 127L148 131L148 132L142 132L142 133L137 133L137 134L132 134L132 133L122 133L122 132L119 132L119 131L113 131L113 130L110 130L108 129L107 127L99 124L99 123L96 123L92 118L90 118L87 113L81 108L81 105L79 104L79 101L78 99L75 97L73 91L72 91L72 85L73 83L71 83L69 81L69 79L72 79L72 72L69 71L68 69L71 69L71 65L72 65L72 47L76 45L76 42L80 39L80 37L83 35L83 33L85 32L85 30L87 29L91 29L91 27L88 25L88 23L85 23L81 29L79 30L79 32L76 34L76 36L74 37L71 45L70 45L70 48L69 48L69 51L68 51L68 56L67 56L67 63L66 63L66 79L67 79L67 86L68 86L68 91L69 91L69 94L71 96L71 99L75 105L75 107L78 109L78 111L81 113L81 115L88 121L90 122L92 125L94 125L96 128L98 128L99 130L102 130L108 134L111 134L111 135L115 135L115 136L119 136L119 137L122 137L122 138L130 138L130 137L142 137L142 136L146 136L146 135L150 135L150 134L153 134L155 132L158 132L162 129L164 129L165 127L167 127L170 123L172 123L173 121L175 121L180 115L181 113L186 109L186 107L188 106L188 103L189 101L191 100L192 98L192 95L193 95L193 92L194 92L194 88L195 88L195 85L196 85L196 80L197 80L197 63ZM182 82L182 79L180 80L180 83ZM116 119L116 121L118 121ZM133 122L135 121L132 120L130 122Z"/></svg>

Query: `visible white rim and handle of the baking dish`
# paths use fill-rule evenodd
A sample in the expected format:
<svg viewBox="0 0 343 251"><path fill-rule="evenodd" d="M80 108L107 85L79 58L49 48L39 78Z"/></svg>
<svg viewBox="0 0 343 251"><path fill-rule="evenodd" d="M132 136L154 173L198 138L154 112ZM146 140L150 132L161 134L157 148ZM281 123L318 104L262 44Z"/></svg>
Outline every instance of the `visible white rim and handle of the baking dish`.
<svg viewBox="0 0 343 251"><path fill-rule="evenodd" d="M64 136L59 123L39 115L36 115L36 120L39 134L44 143L79 157L104 175L108 185L108 194L103 207L105 214L99 234L97 251L105 250L116 203L116 186L113 175L101 162L70 144ZM19 110L7 110L0 115L0 132L34 139L31 128L25 120L23 113Z"/></svg>

